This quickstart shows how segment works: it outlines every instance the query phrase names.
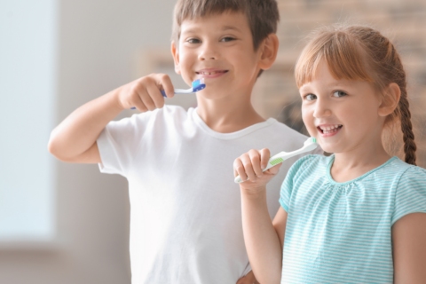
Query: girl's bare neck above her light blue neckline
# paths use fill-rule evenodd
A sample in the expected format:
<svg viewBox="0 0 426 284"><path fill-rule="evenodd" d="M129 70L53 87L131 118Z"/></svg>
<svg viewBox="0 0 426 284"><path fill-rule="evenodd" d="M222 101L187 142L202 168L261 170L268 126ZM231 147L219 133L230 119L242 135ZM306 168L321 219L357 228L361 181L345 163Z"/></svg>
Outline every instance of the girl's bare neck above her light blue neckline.
<svg viewBox="0 0 426 284"><path fill-rule="evenodd" d="M350 181L383 165L389 159L390 155L386 153L382 144L362 151L336 153L330 174L336 182Z"/></svg>

